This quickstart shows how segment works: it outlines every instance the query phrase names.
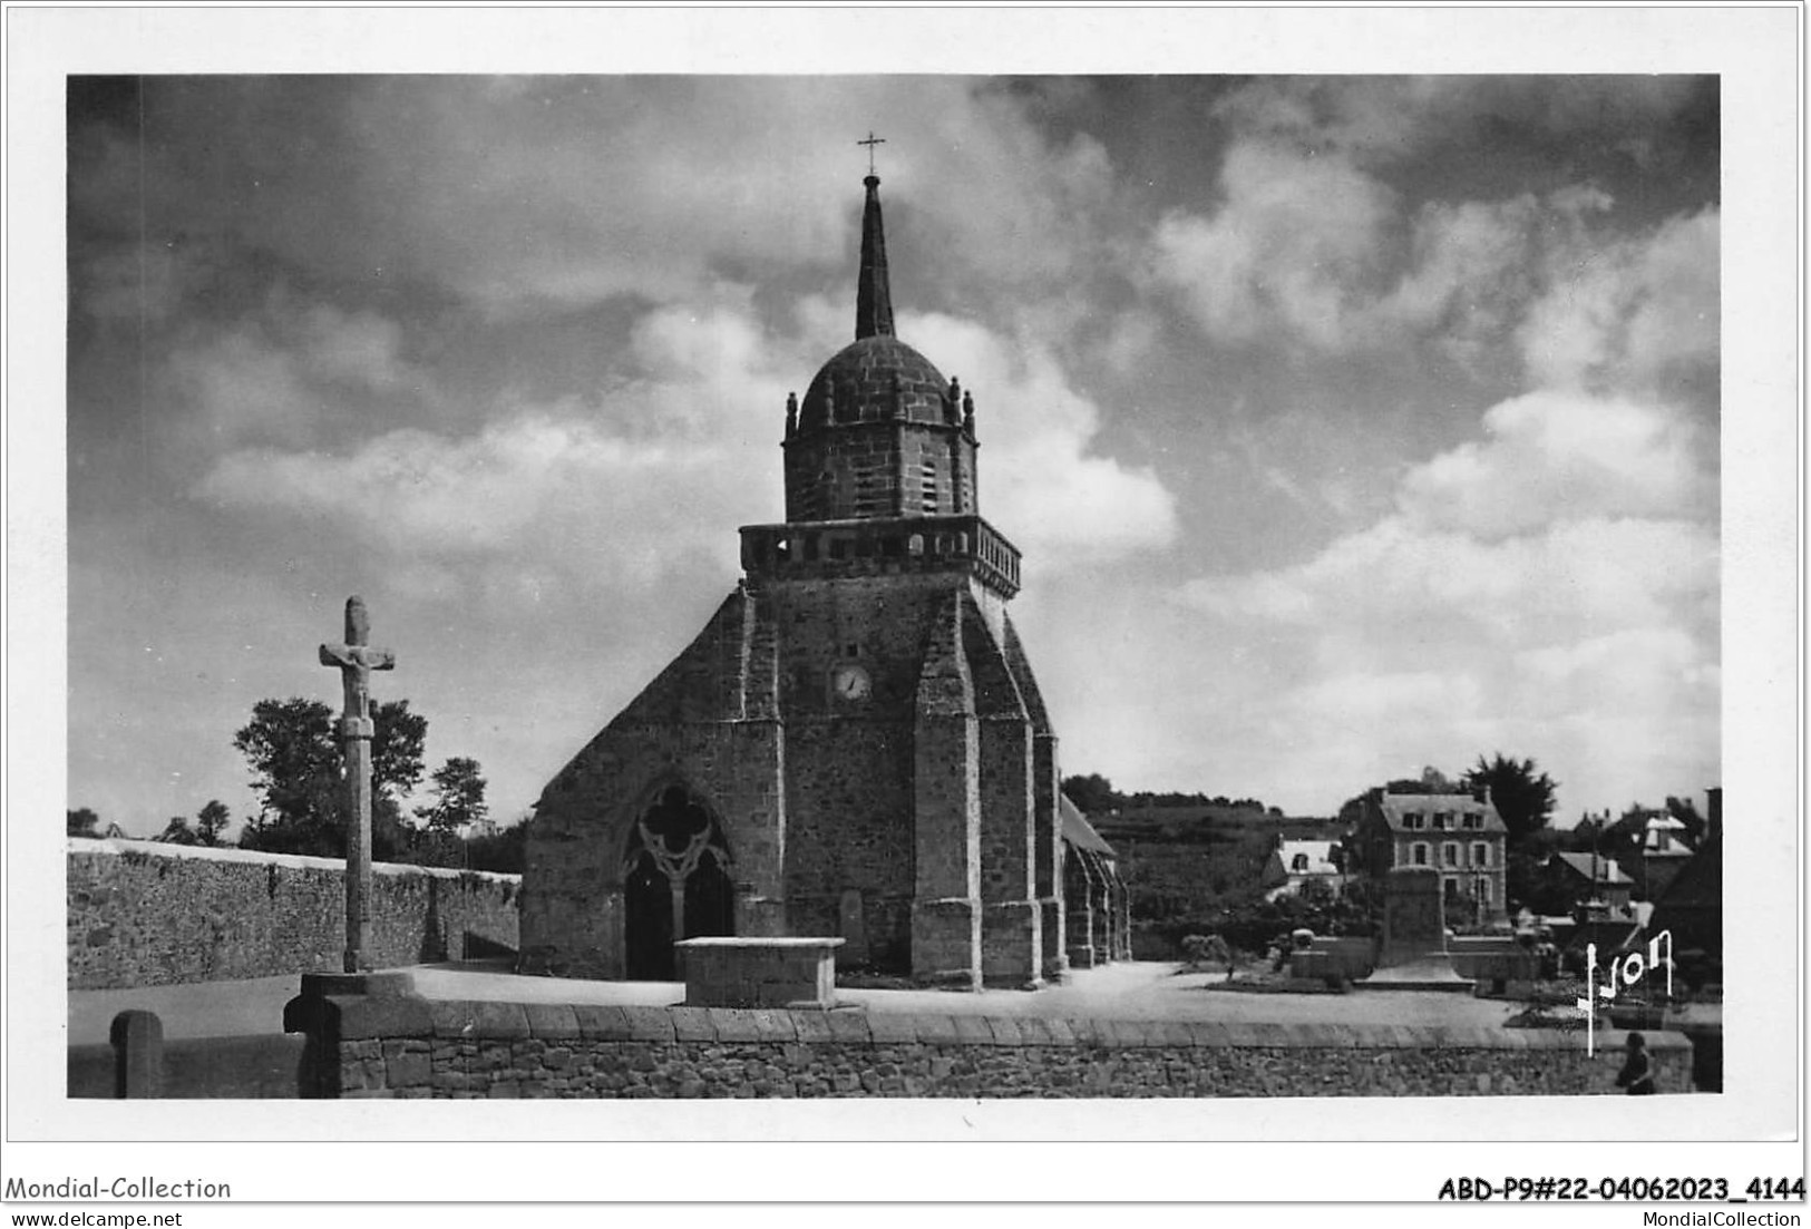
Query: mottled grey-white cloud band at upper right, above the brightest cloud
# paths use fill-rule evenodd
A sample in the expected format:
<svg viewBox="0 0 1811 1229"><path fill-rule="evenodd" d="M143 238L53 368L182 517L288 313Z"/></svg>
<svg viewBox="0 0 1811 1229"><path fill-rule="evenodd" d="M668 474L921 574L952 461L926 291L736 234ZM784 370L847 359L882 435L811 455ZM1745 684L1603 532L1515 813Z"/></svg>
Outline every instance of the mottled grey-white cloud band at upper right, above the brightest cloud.
<svg viewBox="0 0 1811 1229"><path fill-rule="evenodd" d="M1222 201L1155 228L1146 281L1226 346L1322 353L1429 340L1467 366L1519 353L1530 387L1659 389L1715 364L1719 214L1619 233L1588 183L1411 217L1338 148L1241 139Z"/></svg>

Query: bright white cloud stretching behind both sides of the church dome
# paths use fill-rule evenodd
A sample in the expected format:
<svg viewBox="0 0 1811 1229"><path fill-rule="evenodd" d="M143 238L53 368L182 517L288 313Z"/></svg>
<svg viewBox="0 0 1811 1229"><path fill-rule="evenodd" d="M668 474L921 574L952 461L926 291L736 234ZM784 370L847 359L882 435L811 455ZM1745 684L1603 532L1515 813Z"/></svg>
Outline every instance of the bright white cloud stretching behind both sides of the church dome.
<svg viewBox="0 0 1811 1229"><path fill-rule="evenodd" d="M1047 351L947 317L904 320L974 389L982 507L1040 552L1040 568L1170 541L1174 498L1150 472L1088 453L1099 414ZM701 552L730 576L735 527L781 509L773 443L795 364L797 346L766 335L735 295L661 308L634 329L636 375L596 404L523 405L467 436L395 429L339 453L239 449L196 494L324 518L406 559L429 590L460 561L538 565L538 585L648 585Z"/></svg>

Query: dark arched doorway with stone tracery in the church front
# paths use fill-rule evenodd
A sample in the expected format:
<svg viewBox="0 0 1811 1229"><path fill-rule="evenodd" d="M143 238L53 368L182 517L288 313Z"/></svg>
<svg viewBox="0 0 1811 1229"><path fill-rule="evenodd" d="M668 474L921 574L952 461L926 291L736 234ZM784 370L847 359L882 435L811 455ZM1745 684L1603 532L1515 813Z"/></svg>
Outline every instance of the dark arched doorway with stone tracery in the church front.
<svg viewBox="0 0 1811 1229"><path fill-rule="evenodd" d="M676 939L735 934L735 887L723 825L685 786L636 816L623 856L623 945L630 981L672 981Z"/></svg>

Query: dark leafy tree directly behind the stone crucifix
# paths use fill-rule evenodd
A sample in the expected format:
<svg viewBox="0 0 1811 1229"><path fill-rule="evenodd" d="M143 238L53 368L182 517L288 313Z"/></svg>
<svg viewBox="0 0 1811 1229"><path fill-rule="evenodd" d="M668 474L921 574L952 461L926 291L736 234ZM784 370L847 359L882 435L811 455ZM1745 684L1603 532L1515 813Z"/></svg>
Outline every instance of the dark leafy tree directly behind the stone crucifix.
<svg viewBox="0 0 1811 1229"><path fill-rule="evenodd" d="M422 780L427 719L407 700L371 708L371 854L391 858L409 843L402 796ZM344 753L333 710L321 700L259 700L252 722L234 735L252 766L263 811L239 843L272 853L346 856Z"/></svg>

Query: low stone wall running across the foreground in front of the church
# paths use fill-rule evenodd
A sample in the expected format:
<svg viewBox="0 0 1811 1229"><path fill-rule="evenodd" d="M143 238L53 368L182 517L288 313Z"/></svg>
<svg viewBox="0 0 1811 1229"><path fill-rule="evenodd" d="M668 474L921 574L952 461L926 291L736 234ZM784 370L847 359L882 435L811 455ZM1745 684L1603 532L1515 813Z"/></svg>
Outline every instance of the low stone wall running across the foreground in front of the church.
<svg viewBox="0 0 1811 1229"><path fill-rule="evenodd" d="M1623 1035L295 999L315 1097L1447 1097L1619 1093ZM1661 1091L1684 1037L1650 1039Z"/></svg>

